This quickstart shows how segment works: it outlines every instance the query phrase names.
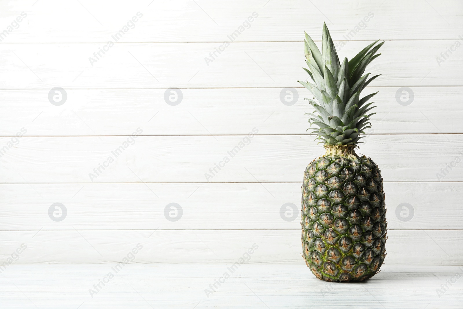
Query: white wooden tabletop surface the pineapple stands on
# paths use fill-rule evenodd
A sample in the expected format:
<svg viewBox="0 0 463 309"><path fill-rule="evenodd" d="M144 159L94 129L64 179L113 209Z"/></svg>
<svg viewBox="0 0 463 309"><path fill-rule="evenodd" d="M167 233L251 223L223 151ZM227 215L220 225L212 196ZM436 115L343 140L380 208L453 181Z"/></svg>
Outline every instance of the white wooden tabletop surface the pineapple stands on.
<svg viewBox="0 0 463 309"><path fill-rule="evenodd" d="M243 264L231 272L227 264L128 264L117 274L111 265L13 265L2 273L4 308L461 308L461 267L447 267L447 273L434 266L416 272L408 265L383 265L381 272L360 287L359 284L327 283L314 277L307 266L298 264ZM98 292L94 284L114 274ZM210 284L220 279L206 295ZM447 280L445 293L439 293ZM13 285L14 284L14 285ZM309 287L309 288L308 288ZM89 289L96 292L92 297ZM56 293L59 290L59 293ZM209 290L212 291L212 290ZM443 290L442 290L443 291ZM365 292L365 293L363 293ZM24 293L24 294L23 294ZM365 295L366 294L366 295ZM26 297L25 297L26 296ZM440 297L439 297L440 296Z"/></svg>

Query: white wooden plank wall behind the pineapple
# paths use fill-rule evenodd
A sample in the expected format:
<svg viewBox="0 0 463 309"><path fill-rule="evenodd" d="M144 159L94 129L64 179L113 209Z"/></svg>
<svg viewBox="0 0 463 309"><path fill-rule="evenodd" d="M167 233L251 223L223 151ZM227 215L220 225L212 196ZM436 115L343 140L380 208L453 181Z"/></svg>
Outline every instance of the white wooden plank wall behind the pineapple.
<svg viewBox="0 0 463 309"><path fill-rule="evenodd" d="M382 76L365 90L379 90L378 107L359 151L384 177L386 263L463 265L463 163L436 176L463 159L461 1L24 0L2 1L0 12L0 31L27 14L0 42L0 148L14 144L0 158L0 262L22 243L25 264L119 261L137 243L135 262L230 262L257 243L251 263L300 263L299 218L282 220L280 208L300 207L303 170L323 153L306 133L309 94L296 80L307 78L303 31L319 42L326 21L335 44L344 40L340 57L386 41L369 67ZM138 12L92 66L88 58ZM250 28L207 65L253 12ZM48 100L54 87L67 93L61 106ZM177 106L164 101L170 87L181 88ZM285 87L299 93L293 106L280 101ZM408 106L396 101L401 87L413 91ZM178 221L164 216L172 202ZM63 221L50 219L53 203L66 207ZM411 220L396 215L401 203L413 207Z"/></svg>

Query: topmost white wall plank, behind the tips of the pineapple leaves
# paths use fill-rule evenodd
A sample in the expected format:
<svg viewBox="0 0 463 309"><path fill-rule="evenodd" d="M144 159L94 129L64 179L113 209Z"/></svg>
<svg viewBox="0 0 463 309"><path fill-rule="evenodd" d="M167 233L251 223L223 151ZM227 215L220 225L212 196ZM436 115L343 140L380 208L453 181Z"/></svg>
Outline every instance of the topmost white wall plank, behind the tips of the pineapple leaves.
<svg viewBox="0 0 463 309"><path fill-rule="evenodd" d="M19 26L13 25L16 29L11 29L5 42L106 43L124 26L121 42L223 42L236 30L241 32L237 41L294 41L301 40L303 30L319 39L324 21L337 39L453 39L463 32L462 6L457 0L446 1L444 6L437 0L419 4L398 0L238 0L220 4L213 0L119 0L111 6L104 1L79 2L66 6L58 0L4 3L0 6L4 27L21 12L27 14ZM55 13L58 6L59 15ZM127 27L137 12L142 17ZM253 12L258 17L240 29Z"/></svg>

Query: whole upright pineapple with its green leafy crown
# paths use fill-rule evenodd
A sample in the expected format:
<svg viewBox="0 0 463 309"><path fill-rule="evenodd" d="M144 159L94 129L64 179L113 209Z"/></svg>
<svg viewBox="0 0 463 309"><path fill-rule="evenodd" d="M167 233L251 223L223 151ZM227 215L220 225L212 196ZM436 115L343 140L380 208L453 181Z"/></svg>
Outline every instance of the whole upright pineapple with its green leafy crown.
<svg viewBox="0 0 463 309"><path fill-rule="evenodd" d="M326 25L322 51L306 33L305 56L312 78L300 82L316 101L306 99L312 133L325 144L326 153L312 161L302 184L302 256L307 266L325 281L361 281L374 276L386 256L386 206L378 165L358 156L355 148L371 127L374 108L360 92L377 76L363 75L384 43L369 44L350 61L339 63Z"/></svg>

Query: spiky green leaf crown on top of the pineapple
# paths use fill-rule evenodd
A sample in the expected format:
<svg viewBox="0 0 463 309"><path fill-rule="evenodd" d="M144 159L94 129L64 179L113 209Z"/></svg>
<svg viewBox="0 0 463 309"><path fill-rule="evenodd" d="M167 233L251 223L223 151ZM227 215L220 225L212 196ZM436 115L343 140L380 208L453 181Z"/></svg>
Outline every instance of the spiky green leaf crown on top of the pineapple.
<svg viewBox="0 0 463 309"><path fill-rule="evenodd" d="M365 104L378 92L366 95L360 99L360 93L370 82L380 75L368 79L370 73L363 75L367 65L381 54L375 55L376 51L384 42L378 41L369 44L361 50L357 56L347 60L344 58L342 64L339 62L338 54L330 36L330 32L323 23L322 50L318 49L312 38L306 35L304 53L309 69L303 68L312 78L311 82L300 82L317 99L318 103L311 100L310 105L315 108L308 120L313 132L325 145L357 145L359 139L365 136L363 130L371 127L368 114L375 106L374 102ZM314 114L317 112L317 114ZM307 129L307 130L309 130Z"/></svg>

